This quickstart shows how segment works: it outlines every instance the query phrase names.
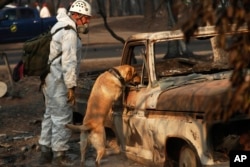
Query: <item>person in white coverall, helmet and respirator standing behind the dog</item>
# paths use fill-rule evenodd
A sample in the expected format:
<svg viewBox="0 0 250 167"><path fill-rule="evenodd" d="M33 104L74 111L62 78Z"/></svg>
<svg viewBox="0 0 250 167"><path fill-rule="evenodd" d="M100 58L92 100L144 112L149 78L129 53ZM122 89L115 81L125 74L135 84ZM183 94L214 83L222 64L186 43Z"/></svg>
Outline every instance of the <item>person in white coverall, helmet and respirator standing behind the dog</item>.
<svg viewBox="0 0 250 167"><path fill-rule="evenodd" d="M81 40L78 33L86 33L91 17L91 6L85 0L76 0L69 9L57 15L58 22L51 33L67 25L73 29L62 29L52 37L49 62L53 60L50 73L42 85L46 110L42 121L39 145L41 156L39 164L52 163L54 166L73 166L73 161L66 154L71 131L65 124L72 122L72 105L75 104L74 88L81 61ZM77 33L77 32L78 33Z"/></svg>

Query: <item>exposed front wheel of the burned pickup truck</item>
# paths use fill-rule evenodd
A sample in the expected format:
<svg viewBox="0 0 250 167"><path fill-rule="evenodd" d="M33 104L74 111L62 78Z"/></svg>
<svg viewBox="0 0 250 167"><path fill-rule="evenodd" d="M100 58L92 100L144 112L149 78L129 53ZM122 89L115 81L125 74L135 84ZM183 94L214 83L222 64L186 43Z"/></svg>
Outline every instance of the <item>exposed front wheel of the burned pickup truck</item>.
<svg viewBox="0 0 250 167"><path fill-rule="evenodd" d="M196 153L187 145L181 148L179 167L200 167Z"/></svg>

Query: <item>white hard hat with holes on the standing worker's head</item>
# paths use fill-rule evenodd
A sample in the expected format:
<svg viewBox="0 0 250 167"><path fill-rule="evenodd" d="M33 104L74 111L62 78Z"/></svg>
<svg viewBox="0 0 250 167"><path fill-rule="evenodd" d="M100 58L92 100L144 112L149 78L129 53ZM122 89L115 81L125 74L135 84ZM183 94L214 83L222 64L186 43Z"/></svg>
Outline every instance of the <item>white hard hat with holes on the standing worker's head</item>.
<svg viewBox="0 0 250 167"><path fill-rule="evenodd" d="M73 2L70 6L69 11L91 16L91 6L85 0L76 0L75 2Z"/></svg>

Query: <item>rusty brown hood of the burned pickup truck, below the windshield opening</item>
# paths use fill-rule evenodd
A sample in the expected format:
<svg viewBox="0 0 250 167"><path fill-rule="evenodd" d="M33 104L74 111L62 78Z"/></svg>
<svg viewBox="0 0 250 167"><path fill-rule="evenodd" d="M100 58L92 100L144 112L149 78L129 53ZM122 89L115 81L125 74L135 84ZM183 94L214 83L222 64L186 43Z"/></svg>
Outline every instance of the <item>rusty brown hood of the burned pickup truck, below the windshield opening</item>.
<svg viewBox="0 0 250 167"><path fill-rule="evenodd" d="M210 75L191 74L159 82L157 110L205 112L208 108L223 109L229 98L231 71Z"/></svg>

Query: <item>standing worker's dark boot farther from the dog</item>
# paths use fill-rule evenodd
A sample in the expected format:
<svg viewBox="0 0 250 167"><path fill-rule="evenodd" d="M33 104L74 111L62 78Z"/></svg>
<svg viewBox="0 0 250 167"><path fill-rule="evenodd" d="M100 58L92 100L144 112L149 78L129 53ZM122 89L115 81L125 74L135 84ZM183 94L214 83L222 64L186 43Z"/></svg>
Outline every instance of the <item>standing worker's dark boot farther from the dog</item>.
<svg viewBox="0 0 250 167"><path fill-rule="evenodd" d="M50 164L53 159L53 152L51 148L41 145L41 155L39 158L39 165Z"/></svg>

